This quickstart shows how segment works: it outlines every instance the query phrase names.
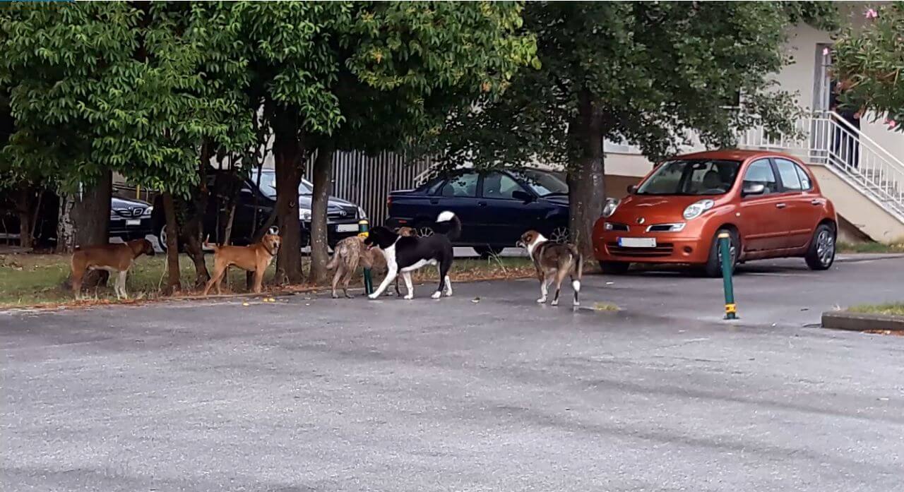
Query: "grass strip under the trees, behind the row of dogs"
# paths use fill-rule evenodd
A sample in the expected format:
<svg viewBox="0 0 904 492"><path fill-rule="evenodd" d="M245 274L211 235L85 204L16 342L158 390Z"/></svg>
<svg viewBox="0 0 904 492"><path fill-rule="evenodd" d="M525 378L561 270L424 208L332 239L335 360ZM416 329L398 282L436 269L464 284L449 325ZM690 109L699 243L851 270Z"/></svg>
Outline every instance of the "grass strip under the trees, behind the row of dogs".
<svg viewBox="0 0 904 492"><path fill-rule="evenodd" d="M206 256L207 267L212 269L213 255ZM303 268L308 272L308 258L303 258ZM270 265L267 274L264 275L265 289L269 292L293 291L298 287L311 288L313 285L288 286L279 288L269 286L267 283L273 278L274 265ZM179 255L179 268L182 283L186 291L184 294L199 294L194 291L194 264L186 255ZM61 303L74 302L72 292L63 287L63 283L69 278L70 255L34 255L34 254L10 254L0 255L0 308L48 306ZM165 285L166 256L157 254L152 257L142 256L129 271L126 282L126 290L133 299L153 300L161 297L160 289ZM382 281L385 268L378 268L373 274L376 284ZM519 257L492 257L459 258L452 264L449 273L453 282L469 282L476 280L493 280L504 278L522 278L534 274L533 264L528 258ZM331 277L332 278L332 277ZM413 275L417 283L438 282L436 268L422 268ZM353 283L362 285L361 275L358 274ZM117 302L113 293L113 279L108 282L107 288L100 288L96 292L84 292L85 297L93 302ZM223 292L248 292L245 286L245 272L238 268L231 268L229 274L229 286L223 282ZM328 287L328 285L327 285ZM404 291L404 285L401 286Z"/></svg>

